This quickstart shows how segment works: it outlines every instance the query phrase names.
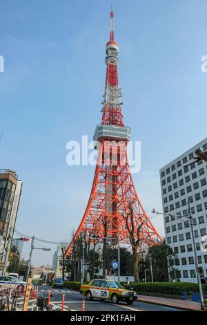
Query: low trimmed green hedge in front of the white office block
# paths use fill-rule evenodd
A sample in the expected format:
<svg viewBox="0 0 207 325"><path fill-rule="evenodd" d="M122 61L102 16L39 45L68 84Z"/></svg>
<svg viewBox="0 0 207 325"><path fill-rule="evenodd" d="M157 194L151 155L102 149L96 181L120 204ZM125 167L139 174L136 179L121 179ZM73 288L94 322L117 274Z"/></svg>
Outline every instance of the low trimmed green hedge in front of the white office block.
<svg viewBox="0 0 207 325"><path fill-rule="evenodd" d="M198 290L198 284L190 282L155 282L154 284L147 283L131 283L137 293L161 293L166 295L184 295L185 290L187 295L192 295L193 291ZM204 293L207 293L207 284L202 285Z"/></svg>

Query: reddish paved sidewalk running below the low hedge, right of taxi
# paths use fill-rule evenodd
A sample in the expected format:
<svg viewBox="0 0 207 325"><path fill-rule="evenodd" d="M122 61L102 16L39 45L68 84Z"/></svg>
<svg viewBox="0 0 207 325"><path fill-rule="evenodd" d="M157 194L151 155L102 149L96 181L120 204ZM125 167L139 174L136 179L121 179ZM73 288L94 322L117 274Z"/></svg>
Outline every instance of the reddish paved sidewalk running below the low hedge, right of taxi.
<svg viewBox="0 0 207 325"><path fill-rule="evenodd" d="M137 301L149 302L157 305L164 305L169 307L175 307L179 309L186 310L201 310L201 304L196 301L188 301L188 300L179 300L179 299L168 299L168 298L160 298L160 297L152 297L139 295Z"/></svg>

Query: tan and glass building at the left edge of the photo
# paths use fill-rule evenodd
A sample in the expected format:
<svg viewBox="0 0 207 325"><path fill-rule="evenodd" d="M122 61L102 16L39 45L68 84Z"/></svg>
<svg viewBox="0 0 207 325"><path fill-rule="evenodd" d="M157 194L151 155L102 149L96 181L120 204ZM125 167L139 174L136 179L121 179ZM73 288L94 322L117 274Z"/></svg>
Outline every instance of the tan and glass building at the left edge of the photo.
<svg viewBox="0 0 207 325"><path fill-rule="evenodd" d="M17 220L22 182L15 171L0 169L0 274L6 257L6 248L10 249L14 227Z"/></svg>

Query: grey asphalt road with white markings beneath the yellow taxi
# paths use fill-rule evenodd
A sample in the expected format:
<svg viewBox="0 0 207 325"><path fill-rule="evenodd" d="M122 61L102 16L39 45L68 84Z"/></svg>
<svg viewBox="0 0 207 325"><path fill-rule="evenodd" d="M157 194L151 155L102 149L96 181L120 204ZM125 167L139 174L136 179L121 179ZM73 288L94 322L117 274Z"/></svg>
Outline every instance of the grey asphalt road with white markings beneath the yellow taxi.
<svg viewBox="0 0 207 325"><path fill-rule="evenodd" d="M50 299L50 303L54 310L61 310L62 295L65 294L65 310L66 311L79 311L82 310L82 304L84 296L78 291L71 289L52 289L51 287L39 286L39 293L43 293L44 296L48 296L48 290L51 290L54 299ZM32 306L33 305L33 306ZM23 297L17 301L17 306L21 309L23 306ZM36 299L30 299L28 310L36 310ZM155 304L148 304L141 301L134 301L131 306L128 306L124 302L119 302L118 305L112 304L110 301L100 301L99 299L92 299L92 301L86 301L86 311L179 311L176 308L169 308L166 306L159 306Z"/></svg>

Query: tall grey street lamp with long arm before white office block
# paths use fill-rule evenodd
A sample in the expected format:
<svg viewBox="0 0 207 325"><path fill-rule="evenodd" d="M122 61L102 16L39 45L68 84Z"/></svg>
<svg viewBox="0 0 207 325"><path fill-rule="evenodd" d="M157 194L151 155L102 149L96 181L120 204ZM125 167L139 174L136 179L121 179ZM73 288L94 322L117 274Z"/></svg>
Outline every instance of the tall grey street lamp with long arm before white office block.
<svg viewBox="0 0 207 325"><path fill-rule="evenodd" d="M194 260L195 260L195 271L197 274L197 281L198 281L198 285L199 285L199 295L201 297L201 310L204 310L204 295L203 295L203 291L202 291L200 270L199 270L199 265L198 265L198 260L197 260L197 250L196 250L195 236L194 236L194 231L193 231L193 216L190 211L190 201L188 200L188 214L185 214L185 215L160 213L160 212L155 212L155 209L152 210L152 213L162 214L162 215L166 215L166 216L176 216L179 219L180 218L188 219L188 223L190 224L190 231L191 231L191 235L192 235L192 239L193 239L193 253L194 253Z"/></svg>

